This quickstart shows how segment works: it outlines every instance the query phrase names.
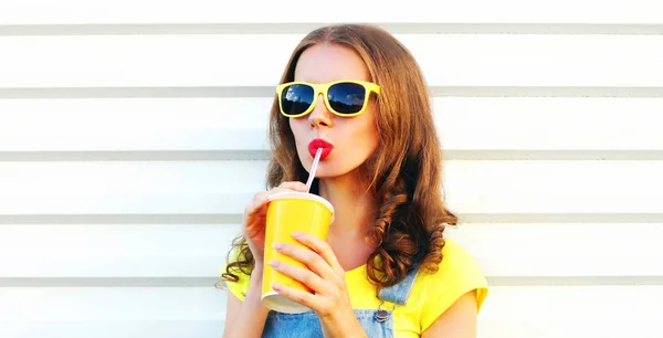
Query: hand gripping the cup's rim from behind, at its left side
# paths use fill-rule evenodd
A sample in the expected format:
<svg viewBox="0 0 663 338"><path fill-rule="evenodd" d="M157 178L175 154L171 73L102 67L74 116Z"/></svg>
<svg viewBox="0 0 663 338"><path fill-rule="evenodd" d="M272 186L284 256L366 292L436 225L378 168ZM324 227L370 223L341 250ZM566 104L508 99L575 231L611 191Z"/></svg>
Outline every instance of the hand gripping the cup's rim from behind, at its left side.
<svg viewBox="0 0 663 338"><path fill-rule="evenodd" d="M277 192L298 191L306 192L306 184L302 182L283 182L270 191L261 191L253 197L246 205L242 219L242 234L246 239L249 249L253 254L256 265L262 265L265 256L265 221L267 216L267 199Z"/></svg>

